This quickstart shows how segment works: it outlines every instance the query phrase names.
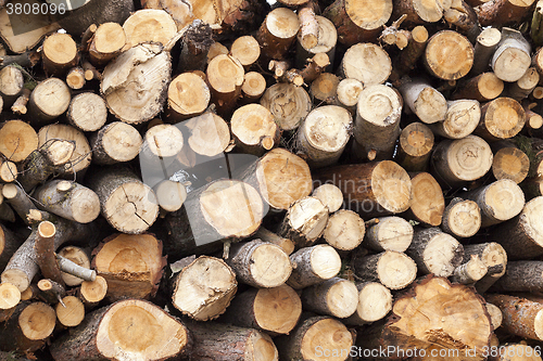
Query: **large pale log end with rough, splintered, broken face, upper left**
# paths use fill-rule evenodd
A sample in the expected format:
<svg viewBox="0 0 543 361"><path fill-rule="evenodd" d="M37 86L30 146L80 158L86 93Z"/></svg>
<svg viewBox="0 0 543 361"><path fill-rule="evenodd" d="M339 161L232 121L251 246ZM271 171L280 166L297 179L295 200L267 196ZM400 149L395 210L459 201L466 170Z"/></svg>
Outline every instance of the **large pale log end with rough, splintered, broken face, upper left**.
<svg viewBox="0 0 543 361"><path fill-rule="evenodd" d="M119 120L140 124L162 111L171 70L169 53L161 44L141 43L108 64L100 91Z"/></svg>

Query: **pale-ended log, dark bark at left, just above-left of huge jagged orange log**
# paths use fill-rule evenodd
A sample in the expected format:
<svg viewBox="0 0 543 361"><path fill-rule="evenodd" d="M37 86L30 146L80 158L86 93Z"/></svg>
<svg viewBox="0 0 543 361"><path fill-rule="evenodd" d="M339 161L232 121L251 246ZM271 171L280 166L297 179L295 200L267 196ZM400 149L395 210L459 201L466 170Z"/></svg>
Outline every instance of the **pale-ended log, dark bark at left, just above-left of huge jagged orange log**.
<svg viewBox="0 0 543 361"><path fill-rule="evenodd" d="M380 282L390 289L405 288L417 276L415 261L394 250L356 259L353 266L361 281Z"/></svg>

